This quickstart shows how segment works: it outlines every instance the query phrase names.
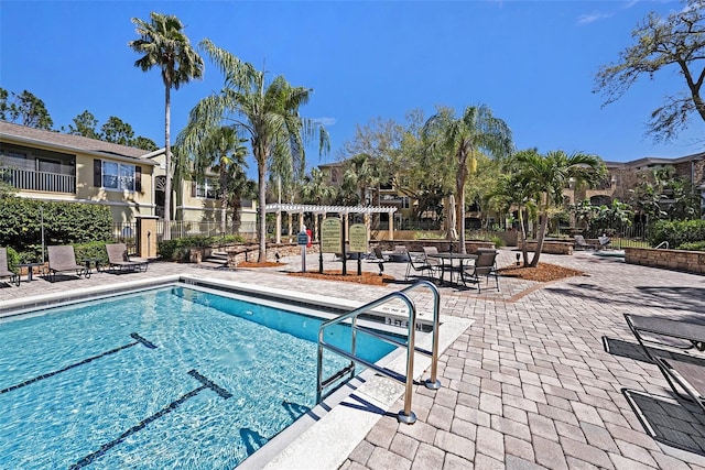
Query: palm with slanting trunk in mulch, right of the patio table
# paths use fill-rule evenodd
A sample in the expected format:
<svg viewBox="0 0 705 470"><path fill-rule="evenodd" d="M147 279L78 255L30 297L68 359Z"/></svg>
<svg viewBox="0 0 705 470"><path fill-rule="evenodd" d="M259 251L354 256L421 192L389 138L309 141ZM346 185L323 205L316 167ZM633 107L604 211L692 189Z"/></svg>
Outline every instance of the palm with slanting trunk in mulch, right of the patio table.
<svg viewBox="0 0 705 470"><path fill-rule="evenodd" d="M594 186L604 177L606 168L597 155L582 152L568 155L562 150L551 151L545 156L536 151L519 152L516 159L520 181L540 192L539 236L530 264L535 267L539 264L549 225L549 209L563 206L563 189L568 187L571 179L578 185Z"/></svg>

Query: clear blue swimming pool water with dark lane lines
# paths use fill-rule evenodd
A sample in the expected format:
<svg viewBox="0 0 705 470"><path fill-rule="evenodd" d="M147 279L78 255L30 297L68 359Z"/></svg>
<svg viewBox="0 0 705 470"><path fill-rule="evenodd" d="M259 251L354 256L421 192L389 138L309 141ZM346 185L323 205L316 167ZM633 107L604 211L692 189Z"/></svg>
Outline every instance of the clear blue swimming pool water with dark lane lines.
<svg viewBox="0 0 705 470"><path fill-rule="evenodd" d="M0 469L231 469L315 406L317 318L182 287L47 313L0 320Z"/></svg>

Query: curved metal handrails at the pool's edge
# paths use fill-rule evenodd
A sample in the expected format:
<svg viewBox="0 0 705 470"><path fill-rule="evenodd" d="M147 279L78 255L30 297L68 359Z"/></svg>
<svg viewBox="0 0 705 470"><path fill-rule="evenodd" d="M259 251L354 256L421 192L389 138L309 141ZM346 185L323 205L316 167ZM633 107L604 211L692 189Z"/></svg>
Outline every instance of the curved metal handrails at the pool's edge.
<svg viewBox="0 0 705 470"><path fill-rule="evenodd" d="M427 287L431 293L433 294L433 341L432 341L432 347L431 347L431 351L425 350L423 348L419 348L415 345L415 340L416 340L416 306L413 303L413 300L409 297L409 295L406 294L410 291L414 291L416 288L420 287ZM357 325L357 318L358 316L360 316L361 314L365 314L367 311L369 311L370 309L378 307L382 304L387 304L388 302L391 300L397 300L397 299L401 299L404 304L406 304L408 310L409 310L409 320L406 323L406 328L408 328L408 335L406 335L406 341L402 341L402 340L398 340L394 338L391 338L389 336L386 336L383 334L380 334L376 330L371 330L369 328L362 327L362 326L358 326ZM323 395L323 391L330 385L332 383L337 382L338 380L345 378L346 375L348 375L347 380L350 380L355 376L355 364L356 363L360 363L362 365L365 365L368 369L372 369L373 371L386 375L390 379L393 379L400 383L403 383L405 389L404 389L404 409L400 411L397 419L400 423L405 423L405 424L414 424L416 422L416 415L414 414L414 412L411 411L411 401L412 401L412 395L413 395L413 384L414 384L414 379L413 379L413 372L414 372L414 352L419 352L421 354L427 356L431 358L431 376L429 379L426 379L424 381L425 385L427 389L431 390L437 390L441 387L441 381L437 379L437 370L438 370L438 325L440 325L440 309L441 309L441 294L438 293L438 288L431 282L429 281L419 281L417 283L402 289L402 291L397 291L397 292L392 292L390 294L387 294L383 297L378 298L377 300L372 300L369 304L366 304L361 307L356 308L355 310L351 310L347 314L343 314L339 317L333 318L328 321L325 321L323 325L321 325L321 328L318 329L318 361L317 361L317 365L318 365L318 389L316 392L316 403L321 403L321 401L323 400L324 395ZM350 352L340 349L336 346L329 345L325 341L324 339L324 334L325 334L325 329L334 326L334 325L339 325L343 321L349 320L350 321L350 327L351 327L351 335L350 335ZM373 336L378 339L381 339L382 341L387 341L391 345L395 345L398 347L405 347L406 348L406 373L405 375L402 375L398 372L394 372L392 370L389 370L387 368L382 368L379 367L372 362L369 362L360 357L358 357L356 354L356 342L357 342L357 331L364 331L366 335L370 335ZM346 365L345 368L340 369L339 371L337 371L336 373L332 374L330 376L328 376L327 379L323 378L323 351L327 349L329 351L333 351L339 356L343 356L346 359L350 360L350 363L348 365Z"/></svg>

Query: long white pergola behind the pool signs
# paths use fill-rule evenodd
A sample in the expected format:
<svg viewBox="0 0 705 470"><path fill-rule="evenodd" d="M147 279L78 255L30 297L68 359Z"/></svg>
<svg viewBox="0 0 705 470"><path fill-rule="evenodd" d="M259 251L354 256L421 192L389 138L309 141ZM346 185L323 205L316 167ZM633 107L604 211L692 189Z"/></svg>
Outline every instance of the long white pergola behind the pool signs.
<svg viewBox="0 0 705 470"><path fill-rule="evenodd" d="M304 228L304 214L311 214L312 216L326 216L327 214L337 214L343 217L347 217L350 214L362 214L365 216L365 225L367 226L367 239L370 239L370 220L371 214L389 214L389 239L394 239L394 223L393 214L397 211L395 207L391 206L316 206L311 204L268 204L264 207L267 214L276 214L276 243L281 243L282 240L282 212L297 214L299 217L299 231ZM318 232L318 218L313 217L314 220L314 233ZM347 223L346 223L347 227ZM347 239L348 233L346 233Z"/></svg>

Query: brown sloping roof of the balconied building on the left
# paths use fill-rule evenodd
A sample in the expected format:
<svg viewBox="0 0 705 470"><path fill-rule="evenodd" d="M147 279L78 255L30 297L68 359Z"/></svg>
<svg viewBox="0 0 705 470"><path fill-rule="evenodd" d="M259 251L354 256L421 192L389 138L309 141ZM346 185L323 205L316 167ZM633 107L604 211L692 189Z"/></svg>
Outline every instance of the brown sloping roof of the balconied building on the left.
<svg viewBox="0 0 705 470"><path fill-rule="evenodd" d="M41 129L29 128L26 125L20 125L4 121L0 121L0 138L3 141L10 141L17 144L42 144L64 151L122 157L129 160L140 160L142 163L144 163L144 159L142 159L142 156L153 153L134 146L119 145L97 139L85 138L83 135L70 135L62 134L54 131L44 131ZM156 164L154 162L148 163Z"/></svg>

